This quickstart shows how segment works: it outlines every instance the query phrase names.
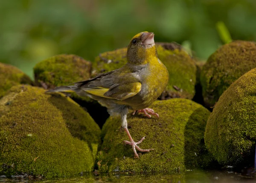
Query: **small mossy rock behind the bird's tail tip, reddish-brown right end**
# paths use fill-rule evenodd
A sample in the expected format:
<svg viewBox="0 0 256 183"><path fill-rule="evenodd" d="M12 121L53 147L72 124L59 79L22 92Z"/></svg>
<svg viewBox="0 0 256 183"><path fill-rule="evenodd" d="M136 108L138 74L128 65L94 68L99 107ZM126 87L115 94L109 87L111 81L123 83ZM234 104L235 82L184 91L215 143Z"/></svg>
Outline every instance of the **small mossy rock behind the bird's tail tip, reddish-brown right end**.
<svg viewBox="0 0 256 183"><path fill-rule="evenodd" d="M53 56L34 67L35 82L45 89L89 79L90 71L90 62L66 54Z"/></svg>

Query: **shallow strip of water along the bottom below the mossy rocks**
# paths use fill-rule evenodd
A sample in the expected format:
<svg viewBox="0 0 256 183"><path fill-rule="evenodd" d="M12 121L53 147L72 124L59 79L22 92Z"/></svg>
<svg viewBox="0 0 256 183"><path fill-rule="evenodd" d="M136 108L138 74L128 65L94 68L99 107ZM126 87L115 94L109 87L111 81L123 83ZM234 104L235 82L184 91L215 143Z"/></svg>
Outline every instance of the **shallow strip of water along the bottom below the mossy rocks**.
<svg viewBox="0 0 256 183"><path fill-rule="evenodd" d="M0 177L0 182L8 183L256 183L253 169L244 172L224 171L188 171L184 175L84 175L71 179L29 179Z"/></svg>

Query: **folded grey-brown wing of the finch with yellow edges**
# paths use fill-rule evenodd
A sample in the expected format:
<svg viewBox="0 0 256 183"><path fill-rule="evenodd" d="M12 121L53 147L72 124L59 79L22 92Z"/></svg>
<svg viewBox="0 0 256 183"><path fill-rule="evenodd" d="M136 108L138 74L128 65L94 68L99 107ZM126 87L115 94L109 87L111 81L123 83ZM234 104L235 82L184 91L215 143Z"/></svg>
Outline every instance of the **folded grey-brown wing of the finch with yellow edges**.
<svg viewBox="0 0 256 183"><path fill-rule="evenodd" d="M131 74L122 76L114 72L105 73L96 78L76 83L78 87L102 98L125 100L140 92L141 83Z"/></svg>

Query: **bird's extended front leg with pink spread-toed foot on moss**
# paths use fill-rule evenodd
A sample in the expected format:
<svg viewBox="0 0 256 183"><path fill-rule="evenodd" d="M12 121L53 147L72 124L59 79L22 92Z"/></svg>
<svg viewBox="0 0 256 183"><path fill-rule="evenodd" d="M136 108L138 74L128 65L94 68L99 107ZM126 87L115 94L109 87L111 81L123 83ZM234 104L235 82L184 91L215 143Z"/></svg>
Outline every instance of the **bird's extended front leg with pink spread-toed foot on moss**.
<svg viewBox="0 0 256 183"><path fill-rule="evenodd" d="M127 112L127 113L128 113L128 112ZM126 113L126 114L122 114L122 116L121 116L121 117L122 117L122 127L124 128L125 132L127 133L127 135L128 135L128 137L129 137L129 140L130 140L130 141L123 141L123 142L124 142L125 144L131 145L131 147L132 147L132 149L133 149L133 151L134 151L135 156L136 156L137 158L139 158L139 155L138 155L136 149L137 149L138 151L141 151L141 152L149 152L149 151L154 150L154 149L140 149L140 147L138 146L138 144L140 144L140 143L145 139L145 137L141 138L140 141L137 141L137 142L135 142L135 141L132 139L131 134L130 134L128 128L127 128L127 120L126 120L127 113Z"/></svg>

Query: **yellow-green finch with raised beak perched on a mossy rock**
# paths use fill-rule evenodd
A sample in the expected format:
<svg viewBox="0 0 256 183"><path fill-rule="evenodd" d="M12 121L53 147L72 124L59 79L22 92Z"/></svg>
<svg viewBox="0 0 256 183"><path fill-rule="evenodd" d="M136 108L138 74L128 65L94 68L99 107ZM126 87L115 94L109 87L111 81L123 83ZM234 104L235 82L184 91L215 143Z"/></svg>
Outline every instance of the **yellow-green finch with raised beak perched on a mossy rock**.
<svg viewBox="0 0 256 183"><path fill-rule="evenodd" d="M47 92L76 92L79 96L88 96L107 107L110 115L120 115L122 128L128 135L135 158L140 152L150 152L154 149L141 149L140 141L135 142L128 130L127 115L144 113L159 118L153 109L148 108L161 95L169 82L169 72L157 57L154 43L154 33L140 32L130 41L127 48L127 63L116 70L102 73L92 79L76 82L70 86L55 87ZM136 150L137 149L137 150Z"/></svg>

